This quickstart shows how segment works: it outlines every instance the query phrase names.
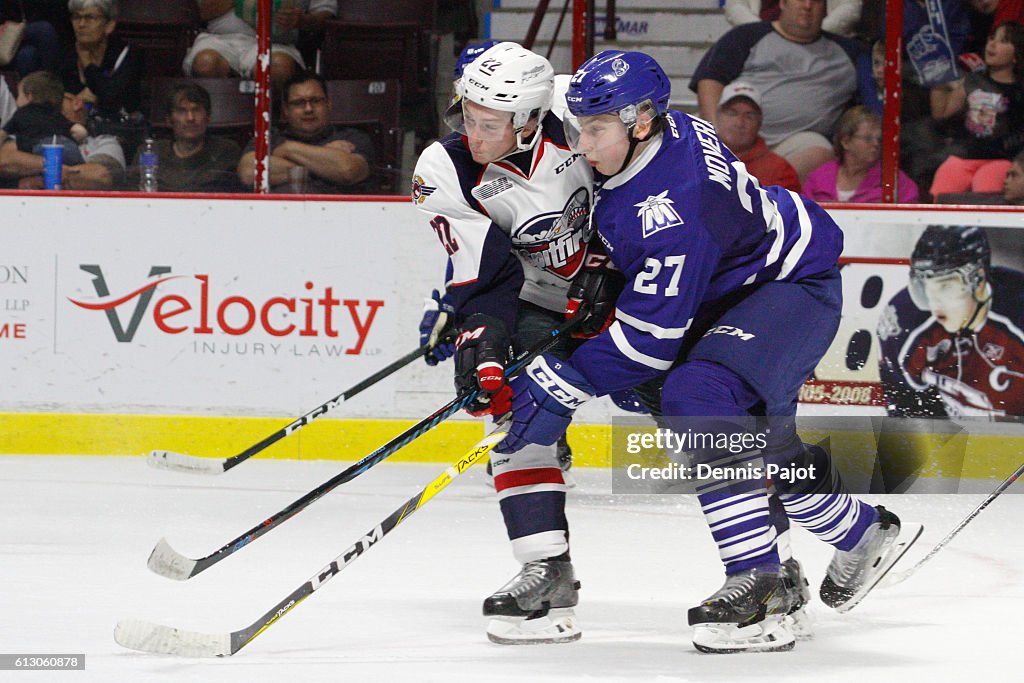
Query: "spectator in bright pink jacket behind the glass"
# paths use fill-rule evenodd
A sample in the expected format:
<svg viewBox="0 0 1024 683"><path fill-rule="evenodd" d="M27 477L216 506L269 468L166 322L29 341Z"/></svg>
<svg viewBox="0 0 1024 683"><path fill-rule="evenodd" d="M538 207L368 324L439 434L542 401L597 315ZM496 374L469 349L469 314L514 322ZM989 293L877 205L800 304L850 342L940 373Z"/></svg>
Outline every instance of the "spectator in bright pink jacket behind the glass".
<svg viewBox="0 0 1024 683"><path fill-rule="evenodd" d="M882 119L858 104L843 114L836 129L836 159L807 174L804 197L816 202L882 201ZM899 172L897 199L918 201L918 185Z"/></svg>

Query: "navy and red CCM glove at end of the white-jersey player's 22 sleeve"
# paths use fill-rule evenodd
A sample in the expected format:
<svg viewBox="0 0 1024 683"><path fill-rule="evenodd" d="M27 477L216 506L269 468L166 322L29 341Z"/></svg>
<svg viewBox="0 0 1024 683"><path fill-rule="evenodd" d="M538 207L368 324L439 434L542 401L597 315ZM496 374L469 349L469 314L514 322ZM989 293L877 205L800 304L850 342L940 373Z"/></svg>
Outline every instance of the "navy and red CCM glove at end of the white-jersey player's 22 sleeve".
<svg viewBox="0 0 1024 683"><path fill-rule="evenodd" d="M484 313L473 313L460 328L455 349L456 390L480 390L466 412L477 416L508 412L507 400L504 404L490 400L505 386L505 367L512 358L512 341L505 324ZM507 399L508 391L502 397Z"/></svg>

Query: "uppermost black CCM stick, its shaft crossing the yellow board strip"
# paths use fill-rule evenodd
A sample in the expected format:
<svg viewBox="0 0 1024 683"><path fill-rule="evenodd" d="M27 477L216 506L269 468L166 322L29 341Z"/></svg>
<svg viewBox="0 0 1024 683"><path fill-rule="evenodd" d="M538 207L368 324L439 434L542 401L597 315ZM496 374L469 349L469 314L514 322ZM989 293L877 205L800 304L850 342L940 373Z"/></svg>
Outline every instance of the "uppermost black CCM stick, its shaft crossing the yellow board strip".
<svg viewBox="0 0 1024 683"><path fill-rule="evenodd" d="M340 394L334 398L328 400L327 402L321 403L313 410L309 411L301 418L296 419L294 422L286 425L282 429L279 429L274 433L270 434L262 441L252 444L242 453L237 456L231 456L230 458L203 458L201 456L189 456L184 453L174 453L173 451L153 451L150 453L146 461L154 467L160 467L168 470L176 470L179 472L202 472L204 474L221 474L231 469L236 465L240 465L245 461L249 460L257 453L260 453L269 446L273 445L286 436L291 435L293 432L302 429L307 424L313 420L327 415L330 411L334 410L341 403L345 402L355 394L361 392L364 389L371 387L378 382L380 382L385 377L392 375L395 371L400 370L411 364L413 360L426 355L433 348L429 344L425 344L415 351L410 351L406 355L401 356L391 365L386 368L378 370L376 373L362 380L358 384L355 384L348 389L345 389Z"/></svg>

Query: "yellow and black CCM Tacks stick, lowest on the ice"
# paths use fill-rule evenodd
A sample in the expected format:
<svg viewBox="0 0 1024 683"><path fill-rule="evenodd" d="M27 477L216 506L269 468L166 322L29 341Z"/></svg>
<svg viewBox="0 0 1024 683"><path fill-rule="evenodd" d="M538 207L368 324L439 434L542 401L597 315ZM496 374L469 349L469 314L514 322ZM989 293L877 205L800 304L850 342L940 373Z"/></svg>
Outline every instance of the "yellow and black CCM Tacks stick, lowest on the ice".
<svg viewBox="0 0 1024 683"><path fill-rule="evenodd" d="M313 574L306 583L292 591L284 600L239 631L224 634L207 634L195 631L175 629L169 626L153 624L138 620L119 622L114 629L114 640L123 647L143 652L158 654L176 654L179 656L230 656L253 641L278 620L294 609L300 602L312 595L324 584L337 575L342 569L355 561L390 533L395 526L403 522L410 515L422 508L434 496L444 489L452 480L465 472L480 458L490 452L507 432L495 431L483 437L479 443L464 455L457 463L444 470L431 481L426 488L409 499L409 501L392 512L386 519L374 526L358 541L349 546L343 553L335 557L323 569Z"/></svg>

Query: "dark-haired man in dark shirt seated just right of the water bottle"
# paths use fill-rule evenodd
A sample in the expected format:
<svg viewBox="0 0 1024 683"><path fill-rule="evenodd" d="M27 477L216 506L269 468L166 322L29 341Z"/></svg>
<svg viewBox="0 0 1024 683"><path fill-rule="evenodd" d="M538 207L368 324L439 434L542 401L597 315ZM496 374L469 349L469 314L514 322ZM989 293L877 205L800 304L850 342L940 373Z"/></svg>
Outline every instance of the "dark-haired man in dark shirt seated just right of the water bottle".
<svg viewBox="0 0 1024 683"><path fill-rule="evenodd" d="M210 93L197 83L182 83L167 93L167 123L172 139L157 140L162 193L243 191L238 166L242 148L234 140L207 134L213 111ZM138 155L129 186L138 181Z"/></svg>

